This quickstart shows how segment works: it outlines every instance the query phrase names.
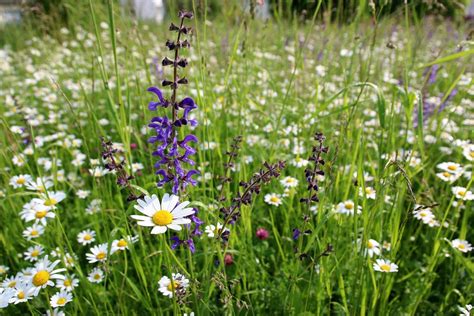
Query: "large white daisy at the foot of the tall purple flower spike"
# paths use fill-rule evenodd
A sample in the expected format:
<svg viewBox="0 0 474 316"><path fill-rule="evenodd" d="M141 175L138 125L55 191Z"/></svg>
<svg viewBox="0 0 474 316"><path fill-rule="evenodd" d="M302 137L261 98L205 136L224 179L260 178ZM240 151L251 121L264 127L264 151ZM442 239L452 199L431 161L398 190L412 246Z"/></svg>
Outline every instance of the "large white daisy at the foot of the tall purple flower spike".
<svg viewBox="0 0 474 316"><path fill-rule="evenodd" d="M163 196L161 203L156 195L145 196L143 200L137 200L138 205L135 205L135 209L146 216L132 215L131 217L138 220L140 226L153 227L152 234L163 234L168 228L181 230L180 225L191 223L191 220L185 217L194 214L194 210L186 207L189 205L188 201L179 204L178 202L178 196L167 193Z"/></svg>

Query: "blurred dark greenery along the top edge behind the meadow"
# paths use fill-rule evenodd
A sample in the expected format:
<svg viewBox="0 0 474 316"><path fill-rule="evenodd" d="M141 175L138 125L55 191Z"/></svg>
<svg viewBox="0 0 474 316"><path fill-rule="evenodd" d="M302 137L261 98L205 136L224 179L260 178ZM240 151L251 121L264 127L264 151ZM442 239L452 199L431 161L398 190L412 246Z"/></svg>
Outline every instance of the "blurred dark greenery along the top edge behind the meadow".
<svg viewBox="0 0 474 316"><path fill-rule="evenodd" d="M62 27L90 25L90 5L96 12L107 14L108 1L120 6L119 0L0 0L0 9L15 5L21 12L21 22L0 25L0 45L15 43L15 33L31 32L60 38ZM122 0L124 1L124 0ZM130 0L129 0L130 1ZM407 4L405 5L405 1ZM402 17L404 8L410 11L413 23L422 23L427 15L454 22L465 20L470 0L163 0L165 20L174 17L179 9L194 10L200 20L225 19L238 23L265 3L268 18L277 22L305 21L320 5L317 18L325 23L348 24L360 20ZM472 4L471 4L472 5ZM103 9L103 10L102 10ZM122 14L133 18L133 10L122 7ZM0 12L1 13L1 12Z"/></svg>

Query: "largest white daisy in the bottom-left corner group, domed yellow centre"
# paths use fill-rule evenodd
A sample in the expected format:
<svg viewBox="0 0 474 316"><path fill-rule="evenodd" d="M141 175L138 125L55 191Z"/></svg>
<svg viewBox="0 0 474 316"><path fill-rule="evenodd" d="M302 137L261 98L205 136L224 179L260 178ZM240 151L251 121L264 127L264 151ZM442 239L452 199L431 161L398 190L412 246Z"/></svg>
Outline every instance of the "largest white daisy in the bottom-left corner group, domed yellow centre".
<svg viewBox="0 0 474 316"><path fill-rule="evenodd" d="M64 279L64 275L60 273L66 269L54 269L59 262L59 260L51 262L46 256L36 263L29 279L35 288L34 296L37 296L42 288L54 286L53 280Z"/></svg>

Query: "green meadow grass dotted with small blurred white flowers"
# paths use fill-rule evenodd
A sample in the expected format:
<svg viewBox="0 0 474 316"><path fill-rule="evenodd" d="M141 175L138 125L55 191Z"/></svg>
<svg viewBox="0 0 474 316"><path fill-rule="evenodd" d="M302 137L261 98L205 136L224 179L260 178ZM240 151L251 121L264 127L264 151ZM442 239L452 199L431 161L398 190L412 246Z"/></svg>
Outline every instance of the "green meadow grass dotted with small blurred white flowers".
<svg viewBox="0 0 474 316"><path fill-rule="evenodd" d="M206 20L198 13L190 22L191 49L184 53L190 83L178 96L190 95L198 104L193 133L201 176L181 200L199 210L203 228L223 222L218 177L238 135L243 142L232 182L222 190L227 201L264 161L285 160L287 167L242 207L241 218L228 226L227 245L204 233L195 238L192 254L170 248L169 230L151 235L137 226L130 218L138 213L136 202L126 201L128 192L116 185L115 175L93 177L89 171L100 160L103 136L121 144L127 170L143 165L131 181L137 192L171 192L155 184L146 126L158 114L147 108L155 96L146 89L160 86L153 61L161 68L161 59L170 56L164 43L174 35L167 23L132 21L112 2L107 8L89 4L78 6L87 18L68 30L39 36L38 30L10 28L2 39L10 46L0 51L0 265L9 270L0 280L33 266L23 253L41 245L50 258L56 248L59 258L75 255L67 274L74 273L79 285L60 308L66 315L456 315L459 306L474 301L472 252L451 244L474 242L472 201L452 193L454 186L472 190L472 159L463 155L473 140L474 109L466 25L419 21L409 7L375 24L360 17L350 25L323 24L315 16L262 22L244 13ZM439 70L430 82L433 67ZM165 68L164 78L170 76ZM421 115L427 103L435 114ZM308 195L305 168L294 165L310 156L316 132L324 133L329 147L317 211L299 202ZM18 166L14 157L27 148ZM79 154L85 159L73 163ZM443 162L459 163L464 174L454 183L441 180L436 174ZM48 191L66 194L45 233L30 241L22 232L32 222L19 213L38 194L9 184L20 174L50 177L54 186ZM266 203L266 194L284 193L279 180L287 176L298 186L281 205ZM359 194L367 187L376 191L375 199ZM89 195L80 198L81 190ZM94 199L101 200L101 210L87 214ZM335 211L348 200L361 207L360 214ZM416 219L416 205L430 206L438 225ZM256 237L260 227L268 239ZM295 228L309 232L295 241ZM77 234L85 229L96 237L82 246ZM178 232L181 238L188 234ZM110 246L128 235L139 237L128 250L101 264L87 262L92 245ZM369 239L380 243L380 255L366 254ZM322 255L328 245L332 251ZM300 258L303 253L313 260ZM226 254L231 265L223 264ZM375 271L379 258L397 264L398 272ZM105 273L98 284L87 279L96 266ZM184 300L158 291L158 281L176 272L190 282ZM52 312L56 292L47 287L0 313Z"/></svg>

